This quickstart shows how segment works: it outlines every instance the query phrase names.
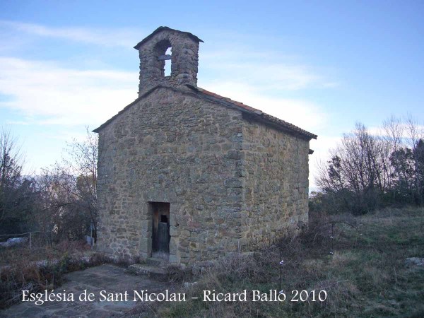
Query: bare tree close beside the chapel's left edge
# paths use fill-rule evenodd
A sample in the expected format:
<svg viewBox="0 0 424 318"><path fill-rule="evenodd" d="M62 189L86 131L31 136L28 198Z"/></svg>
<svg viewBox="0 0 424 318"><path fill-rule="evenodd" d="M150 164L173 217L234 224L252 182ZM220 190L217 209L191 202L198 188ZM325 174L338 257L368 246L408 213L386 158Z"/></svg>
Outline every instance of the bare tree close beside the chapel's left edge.
<svg viewBox="0 0 424 318"><path fill-rule="evenodd" d="M93 225L97 232L98 139L87 129L86 139L74 139L61 163L45 170L42 177L45 201L54 216L58 235L74 239ZM59 236L60 236L59 235Z"/></svg>

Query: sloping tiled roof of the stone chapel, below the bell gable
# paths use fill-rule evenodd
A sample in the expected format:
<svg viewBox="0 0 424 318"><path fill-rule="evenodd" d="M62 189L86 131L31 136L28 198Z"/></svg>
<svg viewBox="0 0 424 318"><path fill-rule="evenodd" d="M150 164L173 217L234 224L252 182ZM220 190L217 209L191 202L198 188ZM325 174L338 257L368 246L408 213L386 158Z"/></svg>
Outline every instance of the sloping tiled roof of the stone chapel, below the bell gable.
<svg viewBox="0 0 424 318"><path fill-rule="evenodd" d="M251 117L252 119L255 119L259 122L263 122L264 124L268 124L269 126L273 126L276 129L281 129L283 131L287 131L291 134L301 136L302 138L305 138L305 139L308 139L308 140L317 139L317 135L312 134L309 131L301 129L298 126L290 124L289 122L285 122L282 119L278 119L277 117L273 117L269 114L266 114L266 113L262 112L261 110L257 110L254 107L250 107L249 105L245 105L242 102L237 102L235 100L231 100L230 98L225 98L225 97L218 95L216 93L212 93L208 90L204 90L203 88L199 88L199 87L191 86L191 85L186 85L186 86L191 89L192 94L198 96L199 98L202 98L204 100L208 100L210 102L216 102L220 105L224 105L226 107L230 107L230 108L233 108L233 109L236 109L236 110L240 110L241 112L249 115L249 117ZM150 90L146 91L146 93L141 95L139 98L134 100L134 102L131 102L131 104L124 107L123 110L121 110L120 112L115 114L113 117L108 119L105 123L98 126L98 128L94 129L93 132L98 133L101 129L105 128L105 126L110 124L110 122L112 122L116 117L118 117L119 114L122 114L122 112L125 112L132 105L136 104L136 102L139 102L139 100L150 95L151 93L153 93L154 90L157 90L158 88L167 88L167 89L170 89L170 90L175 90L175 91L180 92L180 93L190 94L190 92L187 92L185 90L180 90L178 88L173 88L173 87L170 87L170 86L163 86L163 85L155 86L155 87L151 88Z"/></svg>

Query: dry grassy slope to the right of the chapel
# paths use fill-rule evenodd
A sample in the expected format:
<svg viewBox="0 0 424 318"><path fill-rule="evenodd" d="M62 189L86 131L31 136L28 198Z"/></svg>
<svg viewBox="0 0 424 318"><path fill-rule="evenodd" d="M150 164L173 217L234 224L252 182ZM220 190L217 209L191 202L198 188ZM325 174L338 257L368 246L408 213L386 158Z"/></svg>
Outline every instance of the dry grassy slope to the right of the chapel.
<svg viewBox="0 0 424 318"><path fill-rule="evenodd" d="M424 211L388 209L362 218L313 220L310 230L250 257L224 259L197 278L187 302L139 305L146 317L424 317L424 269L405 266L424 257ZM354 226L348 225L352 224ZM334 238L331 239L330 236ZM330 252L333 252L331 254ZM203 302L203 290L237 293L282 288L326 290L325 302Z"/></svg>

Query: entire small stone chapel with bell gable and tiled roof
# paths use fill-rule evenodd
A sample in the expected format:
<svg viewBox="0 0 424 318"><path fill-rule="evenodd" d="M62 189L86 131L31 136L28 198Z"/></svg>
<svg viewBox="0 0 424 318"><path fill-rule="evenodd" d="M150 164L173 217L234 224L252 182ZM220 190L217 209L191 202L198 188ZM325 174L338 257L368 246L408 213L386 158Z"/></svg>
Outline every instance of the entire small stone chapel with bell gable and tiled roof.
<svg viewBox="0 0 424 318"><path fill-rule="evenodd" d="M139 42L139 98L95 129L98 247L115 257L206 266L307 223L317 136L197 87L199 42L167 27Z"/></svg>

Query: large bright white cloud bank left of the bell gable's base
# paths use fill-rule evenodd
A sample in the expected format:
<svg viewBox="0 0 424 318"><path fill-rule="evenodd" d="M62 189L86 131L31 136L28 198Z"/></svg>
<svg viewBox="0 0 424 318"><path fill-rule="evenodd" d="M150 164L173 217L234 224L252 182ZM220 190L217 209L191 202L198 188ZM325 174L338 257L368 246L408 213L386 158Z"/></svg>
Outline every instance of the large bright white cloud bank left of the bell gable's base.
<svg viewBox="0 0 424 318"><path fill-rule="evenodd" d="M37 124L101 124L134 100L137 74L64 69L45 61L0 57L1 107Z"/></svg>

